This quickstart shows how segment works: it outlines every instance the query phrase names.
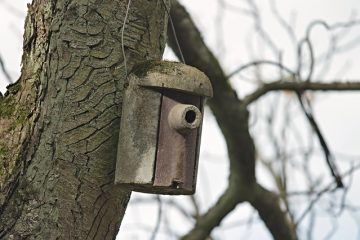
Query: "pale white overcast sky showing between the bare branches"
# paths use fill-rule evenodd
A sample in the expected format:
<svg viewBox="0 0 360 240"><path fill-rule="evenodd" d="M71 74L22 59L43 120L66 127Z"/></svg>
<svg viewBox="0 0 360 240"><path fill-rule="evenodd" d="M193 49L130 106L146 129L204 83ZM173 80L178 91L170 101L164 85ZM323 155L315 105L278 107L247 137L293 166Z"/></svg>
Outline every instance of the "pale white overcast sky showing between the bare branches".
<svg viewBox="0 0 360 240"><path fill-rule="evenodd" d="M0 0L0 56L5 60L7 69L9 70L12 79L16 80L20 73L20 58L22 49L22 32L26 11L26 3L29 1L18 0ZM226 14L220 15L218 12L218 0L198 0L181 1L187 6L188 11L193 16L195 22L200 28L202 35L207 44L213 49L215 54L221 59L221 64L227 73L230 73L238 66L258 59L259 57L266 57L275 60L271 52L264 48L254 47L254 39L249 39L253 33L253 21L246 16L239 16L236 11L227 11ZM226 1L238 8L246 8L246 1ZM283 49L283 62L289 67L295 67L295 53L291 48L291 42L286 37L286 33L276 24L274 18L270 18L269 1L257 1L261 10L264 13L264 26L271 29L271 36L274 42L278 43ZM278 0L277 6L279 12L285 19L290 19L291 13L296 11L296 34L300 38L304 35L306 26L314 19L326 20L329 23L347 21L351 14L355 12L357 19L360 19L360 1L359 0ZM221 21L220 21L221 20ZM222 35L218 35L221 29ZM311 35L314 41L315 52L320 54L329 45L329 33L321 27L316 27ZM219 39L224 42L221 44ZM345 38L344 42L349 42L353 39L360 39L360 27L354 28ZM354 48L351 52L340 54L336 57L330 67L328 75L325 79L358 79L360 80L360 69L358 67L360 56L360 47ZM171 53L166 52L165 57L171 58ZM343 70L344 69L344 70ZM266 69L266 74L269 76L277 76L273 70ZM245 74L247 77L252 76L252 71ZM341 77L341 78L340 78ZM269 77L269 79L271 79ZM6 81L4 75L0 71L0 91L5 91ZM253 90L253 84L244 81L243 78L234 77L232 84L237 89L240 96L249 93ZM269 109L266 103L271 101L275 95L271 94L264 97L258 104L251 108L252 115L264 116ZM315 117L320 124L323 133L328 140L328 144L333 152L337 155L337 160L342 161L344 154L351 156L360 156L360 94L359 93L321 93L316 95L316 104L314 105ZM288 101L288 98L281 98L282 102ZM295 107L294 107L295 106ZM293 104L294 112L293 122L294 127L300 129L301 136L307 136L308 131L304 130L306 122L296 104ZM279 114L284 109L279 109ZM210 111L206 111L206 120L203 127L202 147L200 155L200 166L198 175L198 187L196 198L200 202L201 211L205 212L211 205L215 203L218 196L225 189L228 176L228 163L225 143L221 133L216 125L214 117ZM256 118L257 119L257 118ZM255 118L252 121L256 120ZM281 125L278 122L278 125ZM255 136L261 135L265 129L262 128L261 121L257 121L252 128L252 133ZM277 127L275 129L279 130ZM289 137L291 141L291 137ZM267 146L267 139L258 137L257 145L263 148ZM315 141L318 148L318 144ZM359 158L357 158L359 159ZM359 161L358 161L359 162ZM311 162L314 173L322 173L325 180L328 171L324 166L324 159L319 151L318 157L315 157ZM345 171L348 164L340 164L340 169ZM260 169L261 170L261 169ZM273 183L269 180L264 171L258 171L258 179L269 188L273 188ZM345 180L348 181L347 179ZM349 199L352 203L358 203L360 199L360 189L356 187L357 182L360 181L360 174L357 174L353 179L355 187L349 193ZM325 181L326 182L326 181ZM325 183L324 182L324 183ZM291 176L292 187L301 188L304 186L301 177L297 173ZM139 197L146 197L147 199L154 196L146 194L134 193L132 199L139 199ZM191 208L188 197L162 197L165 200L174 200L184 204L187 208ZM323 207L326 207L327 202L324 202ZM303 208L299 204L299 208ZM174 208L167 207L163 204L163 216L167 215L167 220L170 222L171 228L177 234L183 234L188 231L192 223L182 218L182 216ZM271 239L263 224L259 222L255 216L254 224L241 225L247 220L247 216L252 210L247 204L237 207L221 224L221 227L214 231L215 239ZM321 215L321 210L319 210ZM156 222L158 213L158 206L156 204L133 204L130 202L127 213L125 215L121 232L118 239L150 239L152 229ZM166 213L166 214L165 214ZM340 217L337 226L337 233L332 239L359 239L357 226L360 224L360 215L357 214L357 222L354 220L352 214L346 213ZM355 215L355 213L353 214ZM321 215L315 224L314 239L324 239L329 229L332 228L332 222L327 215ZM141 223L141 225L139 225ZM168 235L163 234L167 230L164 224L160 226L160 233L156 239L170 239ZM305 235L300 236L301 239L306 239ZM172 239L176 239L173 236Z"/></svg>

